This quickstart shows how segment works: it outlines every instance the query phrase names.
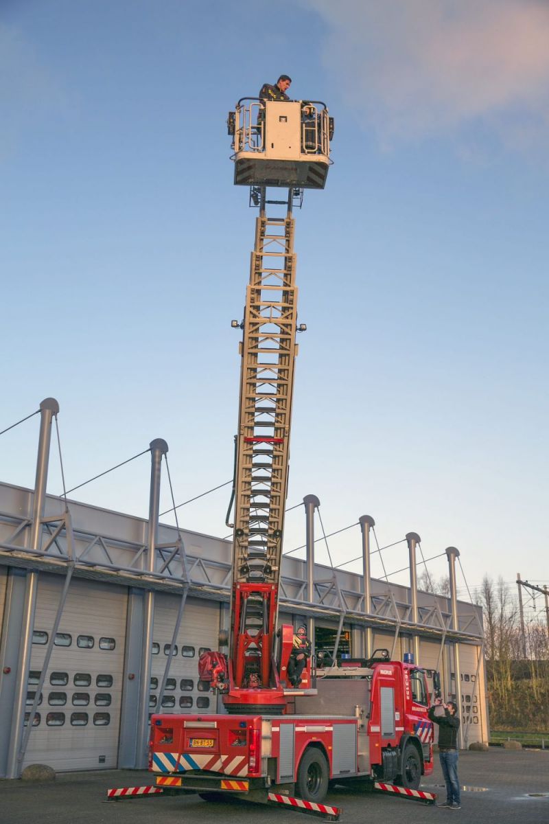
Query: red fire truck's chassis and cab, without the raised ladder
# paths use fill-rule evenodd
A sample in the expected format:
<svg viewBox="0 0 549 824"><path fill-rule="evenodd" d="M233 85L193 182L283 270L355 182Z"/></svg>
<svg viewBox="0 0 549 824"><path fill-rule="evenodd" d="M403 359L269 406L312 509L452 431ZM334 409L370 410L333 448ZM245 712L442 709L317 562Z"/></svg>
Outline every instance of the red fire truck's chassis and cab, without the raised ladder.
<svg viewBox="0 0 549 824"><path fill-rule="evenodd" d="M417 789L433 770L425 674L386 650L319 670L315 691L288 690L286 700L284 714L154 715L156 785L203 798L277 792L322 803L331 783Z"/></svg>

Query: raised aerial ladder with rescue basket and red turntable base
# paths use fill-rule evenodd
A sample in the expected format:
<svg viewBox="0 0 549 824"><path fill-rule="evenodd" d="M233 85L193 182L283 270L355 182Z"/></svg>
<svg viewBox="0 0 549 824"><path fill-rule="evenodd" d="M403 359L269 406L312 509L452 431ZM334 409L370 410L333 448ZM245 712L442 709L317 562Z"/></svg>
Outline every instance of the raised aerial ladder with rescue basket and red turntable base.
<svg viewBox="0 0 549 824"><path fill-rule="evenodd" d="M227 672L219 681L214 678L212 686L223 691L230 713L282 713L286 697L281 662L291 652L291 627L280 630L279 662L273 650L296 335L305 331L305 325L297 323L293 209L302 204L305 189L325 185L333 119L321 101L242 98L227 122L235 185L250 187L249 202L259 214L244 319L232 321L242 330L242 340L230 504L234 523L229 524L227 513L234 530L229 654ZM272 198L269 190L275 190ZM273 209L278 209L276 217Z"/></svg>

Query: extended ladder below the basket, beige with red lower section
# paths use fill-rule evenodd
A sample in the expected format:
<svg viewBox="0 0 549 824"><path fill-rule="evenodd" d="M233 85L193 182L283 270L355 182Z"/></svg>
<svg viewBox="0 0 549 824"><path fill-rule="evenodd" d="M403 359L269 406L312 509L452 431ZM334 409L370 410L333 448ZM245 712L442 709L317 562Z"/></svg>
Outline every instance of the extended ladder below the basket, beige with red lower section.
<svg viewBox="0 0 549 824"><path fill-rule="evenodd" d="M272 685L297 354L294 219L269 218L259 190L246 290L236 436L231 650L235 686ZM280 203L280 201L276 201Z"/></svg>

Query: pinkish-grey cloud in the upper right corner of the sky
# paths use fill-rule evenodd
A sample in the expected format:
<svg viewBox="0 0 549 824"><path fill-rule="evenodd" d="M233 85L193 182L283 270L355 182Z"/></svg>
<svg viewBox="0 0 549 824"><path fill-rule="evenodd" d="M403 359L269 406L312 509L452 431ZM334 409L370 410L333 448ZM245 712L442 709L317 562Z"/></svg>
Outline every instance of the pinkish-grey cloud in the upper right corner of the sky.
<svg viewBox="0 0 549 824"><path fill-rule="evenodd" d="M471 124L520 145L549 132L547 0L302 0L324 61L388 141Z"/></svg>

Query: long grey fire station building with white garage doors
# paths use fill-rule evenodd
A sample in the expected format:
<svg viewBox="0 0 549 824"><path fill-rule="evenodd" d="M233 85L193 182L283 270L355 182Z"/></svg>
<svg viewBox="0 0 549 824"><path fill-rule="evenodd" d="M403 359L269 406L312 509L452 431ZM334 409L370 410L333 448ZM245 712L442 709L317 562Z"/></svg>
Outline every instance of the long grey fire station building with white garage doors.
<svg viewBox="0 0 549 824"><path fill-rule="evenodd" d="M140 702L149 713L223 711L198 678L198 658L228 629L231 542L158 524L153 569L147 520L53 496L37 519L35 498L0 484L0 776L33 763L145 766ZM314 496L304 505L314 507ZM410 588L370 579L371 521L356 527L366 577L284 558L279 624L305 620L316 652L337 646L343 660L375 648L397 659L416 653L461 704L462 746L486 741L480 607L457 601L455 579L454 599L414 590L415 569ZM407 540L413 547L413 533ZM447 550L450 573L455 553Z"/></svg>

